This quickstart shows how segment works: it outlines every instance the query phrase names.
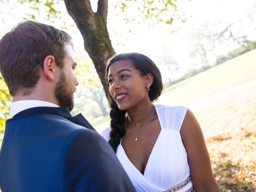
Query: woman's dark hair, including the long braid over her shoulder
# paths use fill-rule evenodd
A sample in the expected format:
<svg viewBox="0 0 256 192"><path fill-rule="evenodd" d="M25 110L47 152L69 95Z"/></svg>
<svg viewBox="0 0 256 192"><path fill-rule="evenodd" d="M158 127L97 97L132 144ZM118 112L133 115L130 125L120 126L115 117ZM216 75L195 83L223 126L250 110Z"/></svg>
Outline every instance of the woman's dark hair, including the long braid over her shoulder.
<svg viewBox="0 0 256 192"><path fill-rule="evenodd" d="M111 64L120 60L129 60L134 68L140 71L142 76L146 76L148 73L153 75L153 82L150 86L150 90L148 92L148 96L151 102L157 100L158 97L161 95L163 90L162 84L162 76L160 70L154 64L154 62L148 58L147 56L139 53L122 53L122 54L115 54L111 58L108 59L106 62L106 82L108 77L108 70ZM116 152L116 148L120 144L121 138L125 134L124 124L126 121L126 110L120 110L118 105L109 94L109 101L110 101L110 139L108 143L114 151Z"/></svg>

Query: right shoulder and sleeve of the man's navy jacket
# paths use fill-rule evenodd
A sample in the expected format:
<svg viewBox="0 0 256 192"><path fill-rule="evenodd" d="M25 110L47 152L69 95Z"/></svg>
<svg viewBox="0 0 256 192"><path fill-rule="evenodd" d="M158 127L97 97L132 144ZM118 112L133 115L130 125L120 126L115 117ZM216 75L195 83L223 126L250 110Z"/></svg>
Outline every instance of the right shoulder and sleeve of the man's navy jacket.
<svg viewBox="0 0 256 192"><path fill-rule="evenodd" d="M90 133L89 133L90 132ZM89 134L88 134L89 133ZM134 191L134 188L118 161L114 150L95 131L79 130L66 143L63 159L63 172L69 178L78 171L81 174L79 183L83 191ZM112 174L115 173L115 177ZM90 182L88 182L88 178Z"/></svg>

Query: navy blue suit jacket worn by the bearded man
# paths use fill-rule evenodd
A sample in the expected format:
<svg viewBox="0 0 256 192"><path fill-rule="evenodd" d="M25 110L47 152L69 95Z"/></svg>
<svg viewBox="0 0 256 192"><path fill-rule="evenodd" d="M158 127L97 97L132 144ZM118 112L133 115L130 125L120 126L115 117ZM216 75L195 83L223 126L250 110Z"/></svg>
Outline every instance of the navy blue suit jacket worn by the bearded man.
<svg viewBox="0 0 256 192"><path fill-rule="evenodd" d="M30 108L6 121L0 187L2 192L135 192L92 126L72 118L68 108L52 107Z"/></svg>

